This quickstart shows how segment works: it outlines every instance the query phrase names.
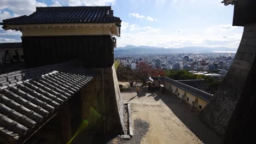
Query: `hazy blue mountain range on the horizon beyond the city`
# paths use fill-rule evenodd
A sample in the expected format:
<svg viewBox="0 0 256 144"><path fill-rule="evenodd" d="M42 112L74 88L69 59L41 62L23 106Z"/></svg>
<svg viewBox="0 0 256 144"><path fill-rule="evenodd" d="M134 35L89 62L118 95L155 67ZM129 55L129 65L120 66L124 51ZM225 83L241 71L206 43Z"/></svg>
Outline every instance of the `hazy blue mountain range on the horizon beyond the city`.
<svg viewBox="0 0 256 144"><path fill-rule="evenodd" d="M127 45L125 47L117 47L114 49L115 55L121 54L143 54L143 53L173 53L173 52L236 52L237 49L231 49L228 47L202 47L202 46L191 46L191 47L180 47L180 48L163 48L154 46L133 46Z"/></svg>

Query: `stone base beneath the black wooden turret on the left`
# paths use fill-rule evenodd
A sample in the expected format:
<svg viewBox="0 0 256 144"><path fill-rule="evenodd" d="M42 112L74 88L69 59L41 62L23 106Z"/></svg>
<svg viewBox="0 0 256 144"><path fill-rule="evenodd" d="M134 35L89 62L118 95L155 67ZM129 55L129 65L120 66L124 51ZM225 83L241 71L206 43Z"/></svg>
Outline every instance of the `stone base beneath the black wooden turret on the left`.
<svg viewBox="0 0 256 144"><path fill-rule="evenodd" d="M88 120L92 129L102 133L104 131L106 134L125 133L124 106L114 66L112 68L92 70L95 71L96 78L81 93L83 95L82 119Z"/></svg>

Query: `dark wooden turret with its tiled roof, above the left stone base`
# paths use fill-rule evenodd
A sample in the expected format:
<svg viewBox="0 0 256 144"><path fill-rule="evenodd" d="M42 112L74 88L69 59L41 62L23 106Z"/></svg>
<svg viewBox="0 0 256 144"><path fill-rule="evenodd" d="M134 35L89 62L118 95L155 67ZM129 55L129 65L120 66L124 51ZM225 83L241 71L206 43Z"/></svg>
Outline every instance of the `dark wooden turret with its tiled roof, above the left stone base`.
<svg viewBox="0 0 256 144"><path fill-rule="evenodd" d="M112 67L119 17L111 7L40 7L31 15L3 20L22 32L26 67L79 59L86 67Z"/></svg>

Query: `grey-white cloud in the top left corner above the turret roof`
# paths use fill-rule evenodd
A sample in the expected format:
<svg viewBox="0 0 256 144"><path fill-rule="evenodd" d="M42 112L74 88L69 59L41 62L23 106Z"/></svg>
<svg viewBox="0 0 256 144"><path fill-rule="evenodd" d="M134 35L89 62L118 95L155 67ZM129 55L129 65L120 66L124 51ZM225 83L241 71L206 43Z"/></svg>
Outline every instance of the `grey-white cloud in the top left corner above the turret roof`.
<svg viewBox="0 0 256 144"><path fill-rule="evenodd" d="M36 0L1 0L0 10L9 9L17 15L28 15L36 11L36 7L47 5Z"/></svg>

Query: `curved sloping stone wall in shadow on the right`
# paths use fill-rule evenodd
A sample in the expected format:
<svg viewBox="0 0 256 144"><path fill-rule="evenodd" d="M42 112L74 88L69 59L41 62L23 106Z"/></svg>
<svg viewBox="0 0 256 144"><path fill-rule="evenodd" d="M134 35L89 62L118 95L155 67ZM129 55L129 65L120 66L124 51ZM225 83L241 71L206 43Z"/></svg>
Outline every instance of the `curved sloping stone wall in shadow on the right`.
<svg viewBox="0 0 256 144"><path fill-rule="evenodd" d="M256 55L256 23L246 25L235 59L214 99L201 112L201 118L217 134L223 135L237 100L245 89Z"/></svg>

